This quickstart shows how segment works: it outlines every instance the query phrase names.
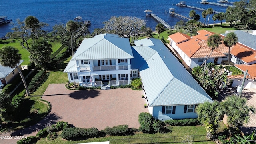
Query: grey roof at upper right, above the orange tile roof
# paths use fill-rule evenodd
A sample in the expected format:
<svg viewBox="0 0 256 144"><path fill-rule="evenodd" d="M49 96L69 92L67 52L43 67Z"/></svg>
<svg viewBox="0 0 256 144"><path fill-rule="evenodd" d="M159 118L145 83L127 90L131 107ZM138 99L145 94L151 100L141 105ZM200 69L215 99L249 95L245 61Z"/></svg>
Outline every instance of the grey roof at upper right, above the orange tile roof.
<svg viewBox="0 0 256 144"><path fill-rule="evenodd" d="M238 37L238 42L241 44L244 44L245 46L248 46L252 48L253 50L256 50L256 36L249 34L247 32L243 32L242 30L235 30L234 33ZM221 34L223 36L227 36L228 33L226 34Z"/></svg>

